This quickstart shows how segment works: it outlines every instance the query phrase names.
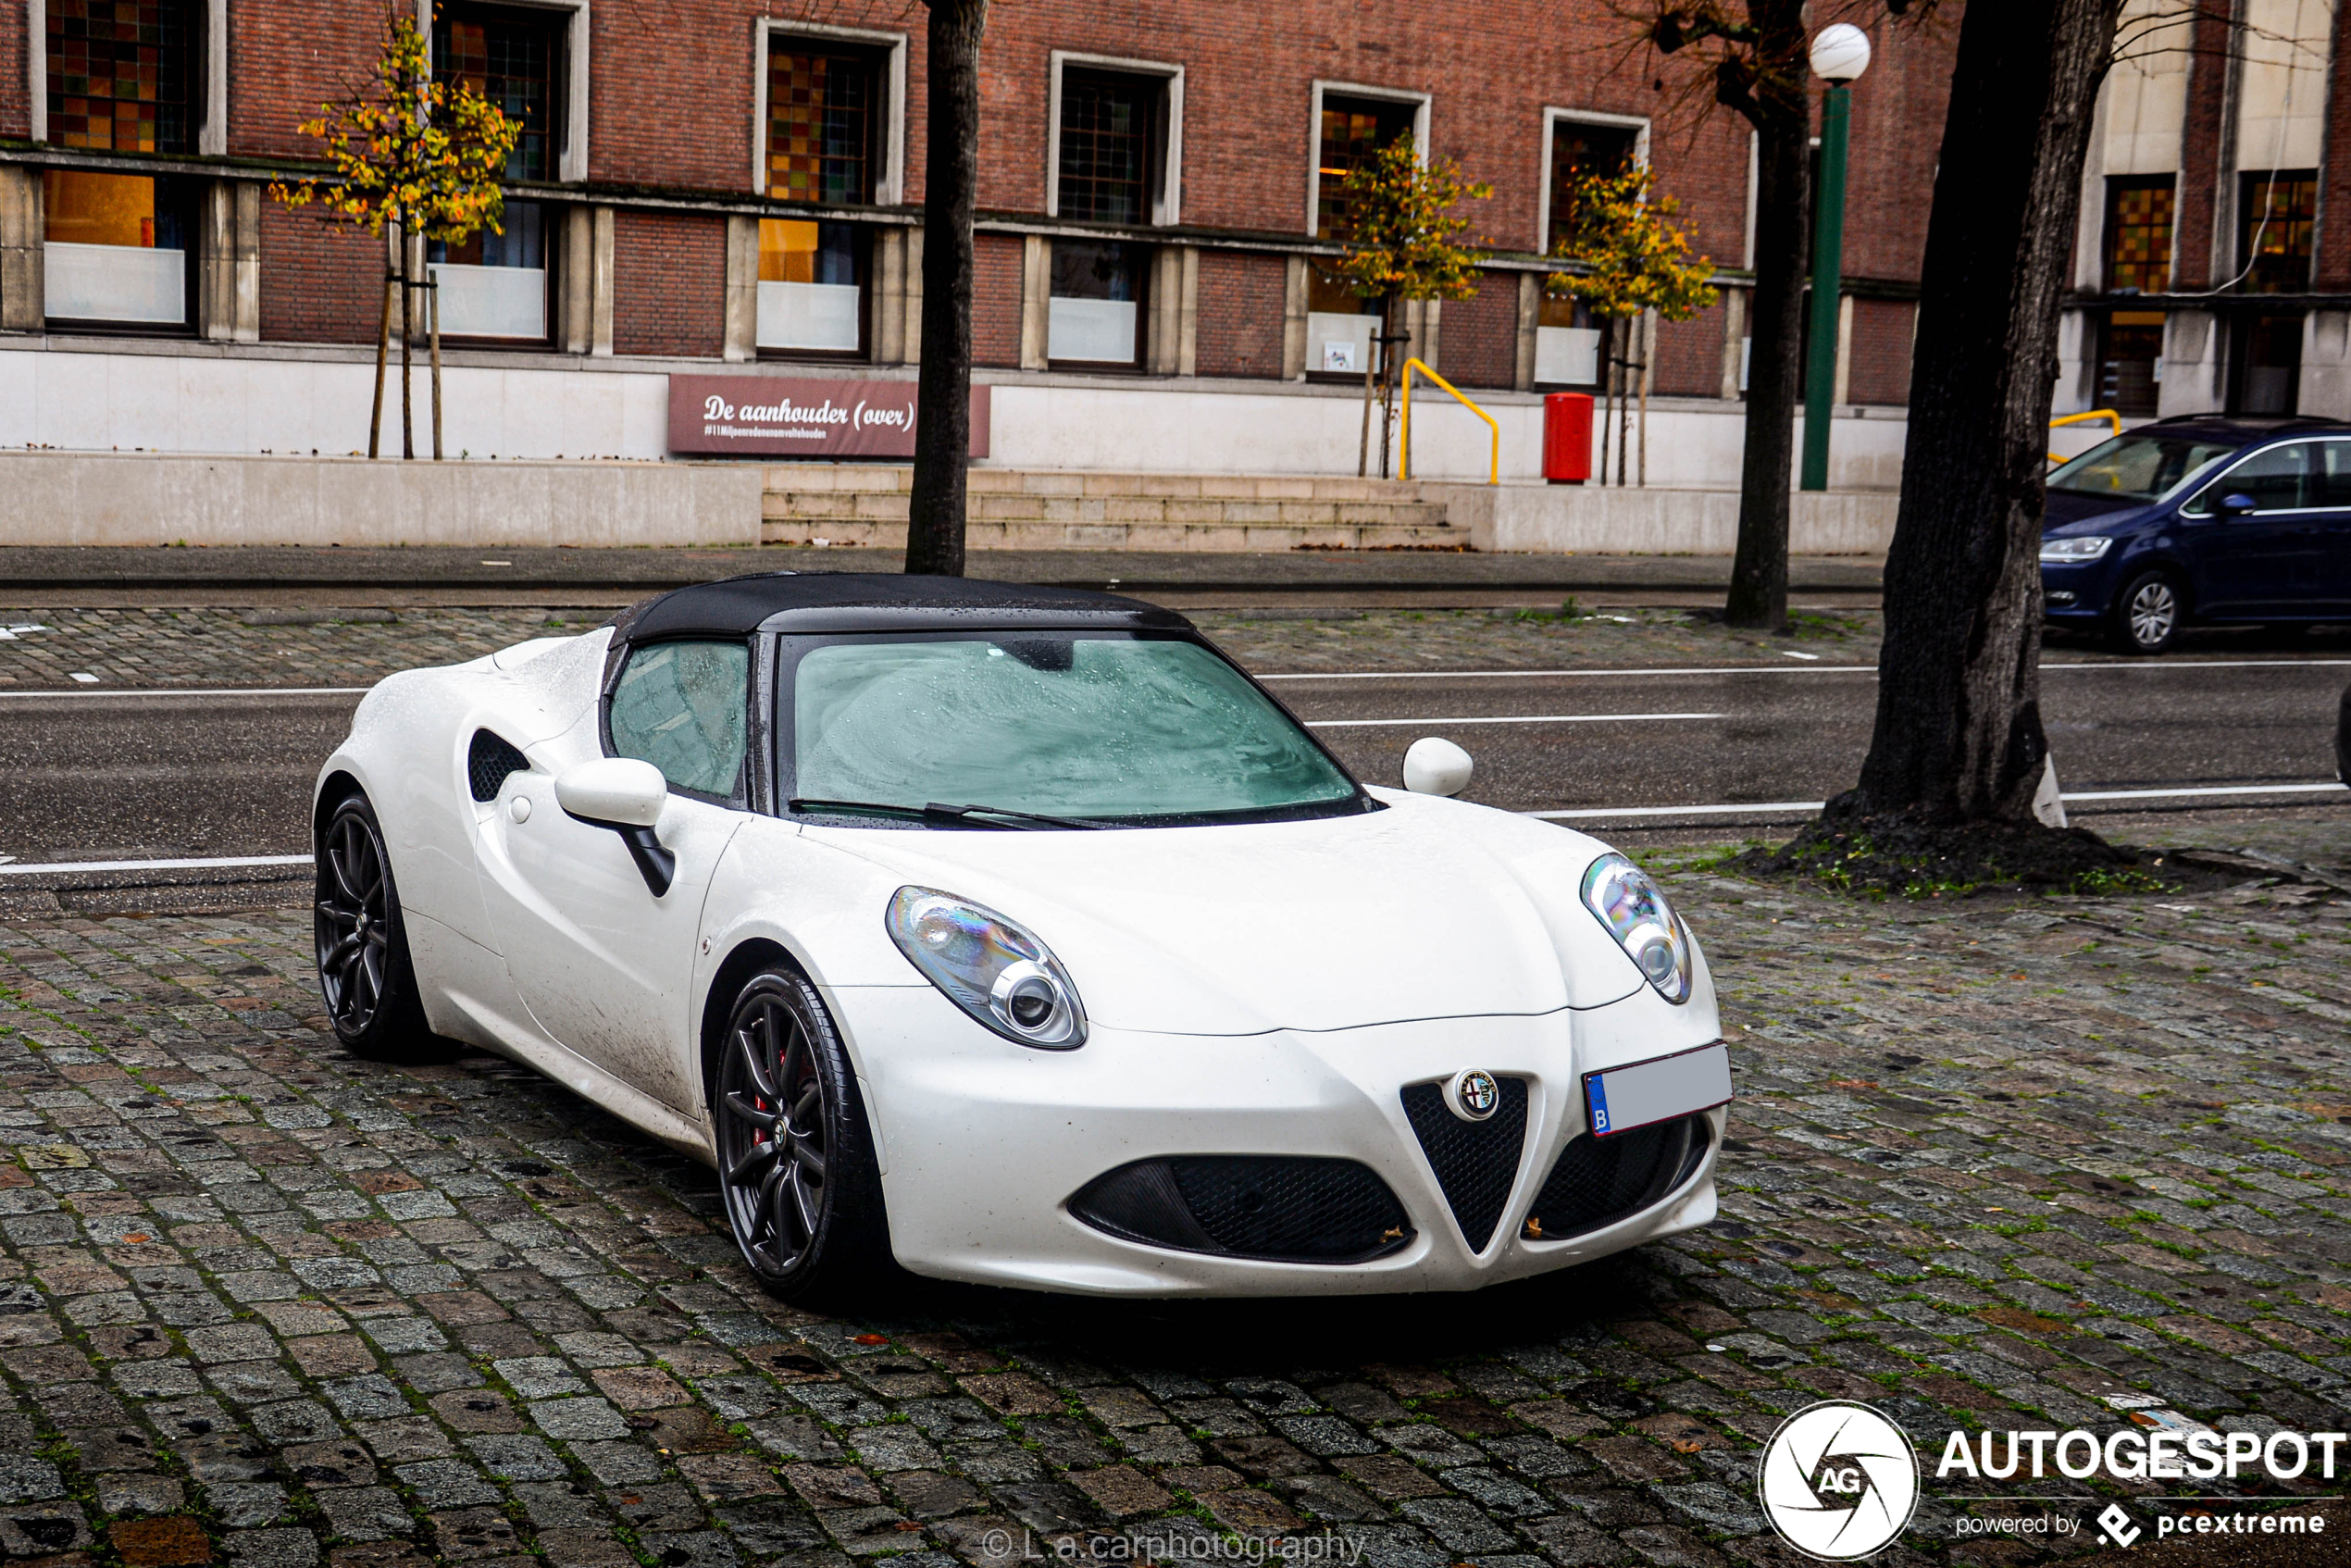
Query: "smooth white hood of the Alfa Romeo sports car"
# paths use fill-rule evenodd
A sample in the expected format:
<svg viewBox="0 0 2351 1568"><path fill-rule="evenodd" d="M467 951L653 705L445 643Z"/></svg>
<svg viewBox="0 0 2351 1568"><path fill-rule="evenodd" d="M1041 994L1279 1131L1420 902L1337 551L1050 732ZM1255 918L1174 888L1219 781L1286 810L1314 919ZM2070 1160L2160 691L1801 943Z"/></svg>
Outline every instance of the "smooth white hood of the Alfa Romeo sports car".
<svg viewBox="0 0 2351 1568"><path fill-rule="evenodd" d="M1603 844L1378 795L1389 809L1302 823L806 835L1027 926L1105 1027L1349 1030L1603 1006L1646 985L1578 893Z"/></svg>

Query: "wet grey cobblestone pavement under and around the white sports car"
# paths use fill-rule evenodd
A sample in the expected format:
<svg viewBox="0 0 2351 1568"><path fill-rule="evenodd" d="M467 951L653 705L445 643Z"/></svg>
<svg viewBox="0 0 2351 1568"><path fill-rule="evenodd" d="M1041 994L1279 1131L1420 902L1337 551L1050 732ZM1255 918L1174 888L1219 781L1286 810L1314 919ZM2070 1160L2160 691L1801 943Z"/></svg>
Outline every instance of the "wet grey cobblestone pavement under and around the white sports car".
<svg viewBox="0 0 2351 1568"><path fill-rule="evenodd" d="M799 1312L705 1171L560 1086L334 1048L301 910L0 929L0 1549L1712 1568L1796 1561L1751 1467L1822 1396L1893 1413L1928 1474L1951 1429L2104 1432L2114 1396L2346 1427L2344 893L1864 905L1665 865L1740 1072L1721 1220L1371 1302ZM1958 1540L1975 1490L2144 1486L1930 1479L1878 1561L2088 1549Z"/></svg>

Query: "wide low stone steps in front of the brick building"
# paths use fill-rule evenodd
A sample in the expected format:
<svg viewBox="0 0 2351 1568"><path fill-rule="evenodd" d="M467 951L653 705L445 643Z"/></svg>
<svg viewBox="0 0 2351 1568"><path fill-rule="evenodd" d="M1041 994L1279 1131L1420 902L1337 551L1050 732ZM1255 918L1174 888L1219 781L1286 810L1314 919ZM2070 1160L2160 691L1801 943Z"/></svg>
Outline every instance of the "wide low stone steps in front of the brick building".
<svg viewBox="0 0 2351 1568"><path fill-rule="evenodd" d="M771 465L759 543L905 548L912 468ZM973 550L1429 550L1467 545L1418 484L973 468Z"/></svg>

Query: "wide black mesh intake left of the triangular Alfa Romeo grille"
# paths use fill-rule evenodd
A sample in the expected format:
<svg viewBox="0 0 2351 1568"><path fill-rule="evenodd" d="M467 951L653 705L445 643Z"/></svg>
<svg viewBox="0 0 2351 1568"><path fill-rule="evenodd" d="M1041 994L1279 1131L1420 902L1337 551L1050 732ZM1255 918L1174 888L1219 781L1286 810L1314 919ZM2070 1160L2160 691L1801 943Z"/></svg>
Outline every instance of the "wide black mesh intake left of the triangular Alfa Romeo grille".
<svg viewBox="0 0 2351 1568"><path fill-rule="evenodd" d="M1126 1241L1267 1262L1368 1262L1413 1239L1396 1194L1352 1159L1140 1159L1086 1182L1070 1213Z"/></svg>

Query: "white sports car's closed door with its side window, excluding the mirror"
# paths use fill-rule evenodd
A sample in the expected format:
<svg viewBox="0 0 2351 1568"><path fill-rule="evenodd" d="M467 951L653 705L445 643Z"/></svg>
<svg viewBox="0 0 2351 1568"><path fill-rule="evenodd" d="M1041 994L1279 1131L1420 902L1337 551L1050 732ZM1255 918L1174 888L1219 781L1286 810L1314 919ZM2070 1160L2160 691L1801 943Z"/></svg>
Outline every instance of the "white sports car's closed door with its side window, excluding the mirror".
<svg viewBox="0 0 2351 1568"><path fill-rule="evenodd" d="M550 771L513 776L482 825L491 933L531 1018L675 1110L698 1100L691 983L703 900L748 816L748 675L743 642L630 649L602 733L590 717ZM555 802L562 766L597 755L639 757L670 780L656 832L677 870L661 896L618 832Z"/></svg>

